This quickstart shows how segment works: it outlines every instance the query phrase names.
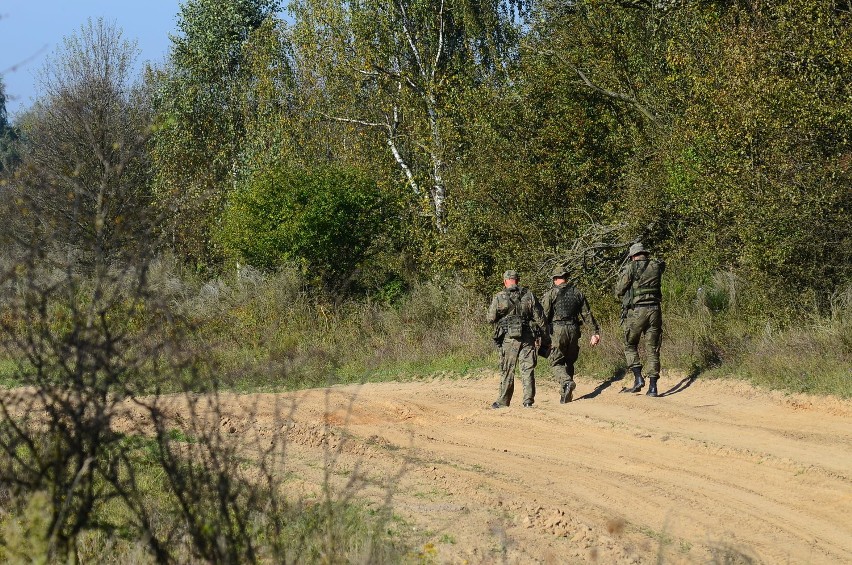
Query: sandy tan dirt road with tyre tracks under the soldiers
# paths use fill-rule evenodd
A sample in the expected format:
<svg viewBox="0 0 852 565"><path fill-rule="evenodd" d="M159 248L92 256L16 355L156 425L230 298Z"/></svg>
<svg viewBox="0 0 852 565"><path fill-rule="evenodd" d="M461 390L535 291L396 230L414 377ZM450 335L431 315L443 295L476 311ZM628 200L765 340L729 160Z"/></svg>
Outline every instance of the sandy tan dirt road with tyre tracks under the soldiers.
<svg viewBox="0 0 852 565"><path fill-rule="evenodd" d="M294 486L389 500L441 563L852 563L852 402L664 375L491 410L497 382L226 396L222 425L287 429Z"/></svg>

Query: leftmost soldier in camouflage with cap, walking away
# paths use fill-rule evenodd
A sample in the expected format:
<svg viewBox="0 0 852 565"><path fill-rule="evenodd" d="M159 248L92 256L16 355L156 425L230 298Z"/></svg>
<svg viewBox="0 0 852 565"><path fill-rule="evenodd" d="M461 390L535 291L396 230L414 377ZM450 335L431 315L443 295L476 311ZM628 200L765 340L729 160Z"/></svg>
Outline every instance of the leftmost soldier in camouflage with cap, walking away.
<svg viewBox="0 0 852 565"><path fill-rule="evenodd" d="M537 341L544 333L544 318L533 293L518 286L518 273L503 273L503 290L488 308L488 323L494 324L494 342L500 349L500 397L492 408L508 406L515 390L515 366L520 362L524 384L524 406L535 402L535 365Z"/></svg>

